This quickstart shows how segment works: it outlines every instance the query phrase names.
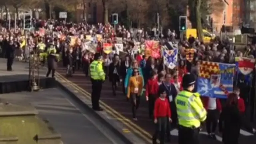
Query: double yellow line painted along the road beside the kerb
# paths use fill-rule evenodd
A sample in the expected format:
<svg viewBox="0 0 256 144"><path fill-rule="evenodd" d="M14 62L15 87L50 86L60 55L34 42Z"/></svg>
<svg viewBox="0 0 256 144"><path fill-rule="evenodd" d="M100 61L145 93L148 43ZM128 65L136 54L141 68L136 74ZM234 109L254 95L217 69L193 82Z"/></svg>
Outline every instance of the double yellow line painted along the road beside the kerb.
<svg viewBox="0 0 256 144"><path fill-rule="evenodd" d="M91 99L91 94L89 92L87 92L86 90L84 90L83 88L81 88L80 86L75 84L74 82L71 82L70 80L66 79L61 74L56 73L56 78L57 78L57 80L60 80L60 82L63 81L63 82L68 83L75 90L77 90L78 92L83 94L86 98ZM143 130L137 124L134 124L134 122L132 122L131 120L122 116L122 114L120 114L119 112L117 112L116 110L114 110L113 108L111 108L110 106L105 104L104 102L100 101L100 105L113 118L122 122L128 128L128 130L131 130L132 132L136 133L138 136L142 137L146 142L152 143L152 135L151 134L149 134L148 132Z"/></svg>

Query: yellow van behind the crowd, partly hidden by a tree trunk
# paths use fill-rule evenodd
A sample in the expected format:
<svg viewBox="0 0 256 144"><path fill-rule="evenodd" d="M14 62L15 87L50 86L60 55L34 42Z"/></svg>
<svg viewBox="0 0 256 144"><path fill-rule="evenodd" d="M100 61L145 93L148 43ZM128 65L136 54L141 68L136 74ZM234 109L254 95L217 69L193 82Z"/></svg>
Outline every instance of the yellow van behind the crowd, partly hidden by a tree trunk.
<svg viewBox="0 0 256 144"><path fill-rule="evenodd" d="M204 34L204 43L209 43L212 39L214 39L214 36L210 34L207 30L203 29L203 34ZM197 32L196 28L188 28L186 30L186 38L188 39L189 36L193 36L194 38L197 38Z"/></svg>

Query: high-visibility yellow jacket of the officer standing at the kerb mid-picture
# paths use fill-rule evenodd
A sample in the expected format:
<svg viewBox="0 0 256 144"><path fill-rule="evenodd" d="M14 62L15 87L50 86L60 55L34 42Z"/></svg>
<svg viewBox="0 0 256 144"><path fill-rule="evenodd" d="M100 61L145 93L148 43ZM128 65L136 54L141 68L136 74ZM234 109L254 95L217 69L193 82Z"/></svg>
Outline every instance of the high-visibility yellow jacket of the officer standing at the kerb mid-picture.
<svg viewBox="0 0 256 144"><path fill-rule="evenodd" d="M105 72L102 67L102 62L94 60L90 64L90 76L93 80L105 80Z"/></svg>

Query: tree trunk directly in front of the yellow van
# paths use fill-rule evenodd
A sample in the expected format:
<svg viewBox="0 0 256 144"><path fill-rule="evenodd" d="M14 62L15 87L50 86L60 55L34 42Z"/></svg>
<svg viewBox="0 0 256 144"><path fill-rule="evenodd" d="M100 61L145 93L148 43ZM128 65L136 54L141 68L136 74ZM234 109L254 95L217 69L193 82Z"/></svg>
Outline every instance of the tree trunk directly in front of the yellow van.
<svg viewBox="0 0 256 144"><path fill-rule="evenodd" d="M201 7L201 0L196 0L196 31L197 36L200 41L203 41L203 29L202 29L202 22L201 22L201 14L200 14L200 7Z"/></svg>

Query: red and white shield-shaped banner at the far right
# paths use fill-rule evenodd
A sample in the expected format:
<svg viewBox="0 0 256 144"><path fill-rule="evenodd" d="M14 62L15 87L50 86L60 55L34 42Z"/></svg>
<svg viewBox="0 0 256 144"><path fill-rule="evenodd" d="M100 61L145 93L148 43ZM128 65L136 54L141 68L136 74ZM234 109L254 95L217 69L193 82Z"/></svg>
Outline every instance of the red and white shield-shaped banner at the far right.
<svg viewBox="0 0 256 144"><path fill-rule="evenodd" d="M236 57L236 70L244 75L248 75L255 67L255 59L246 57Z"/></svg>

